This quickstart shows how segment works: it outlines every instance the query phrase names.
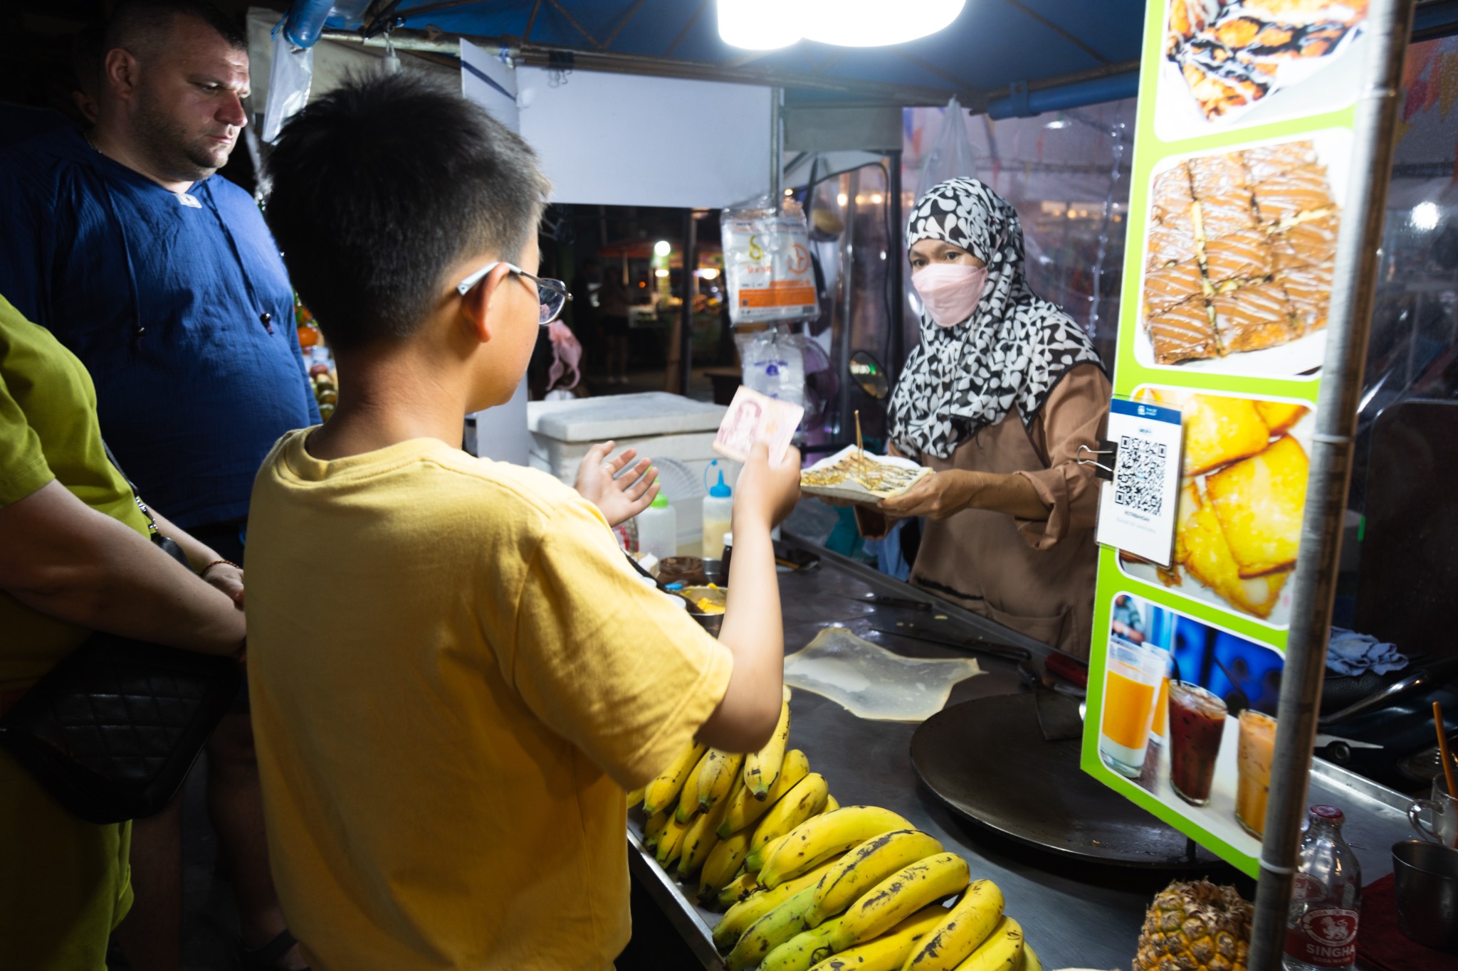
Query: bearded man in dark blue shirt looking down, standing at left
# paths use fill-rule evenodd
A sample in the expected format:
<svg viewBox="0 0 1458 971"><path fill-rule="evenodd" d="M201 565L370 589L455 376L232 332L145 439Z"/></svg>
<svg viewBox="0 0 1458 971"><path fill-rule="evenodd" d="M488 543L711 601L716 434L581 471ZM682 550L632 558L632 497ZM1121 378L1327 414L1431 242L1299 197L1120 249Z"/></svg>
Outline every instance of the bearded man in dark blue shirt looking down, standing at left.
<svg viewBox="0 0 1458 971"><path fill-rule="evenodd" d="M0 153L0 294L86 364L102 434L139 492L241 560L260 461L319 421L278 249L249 194L216 175L246 122L246 41L204 0L127 0L101 51L96 124ZM246 708L208 754L243 946L258 949L283 917ZM175 964L176 846L175 812L136 828L128 924L153 926L124 945L171 946L134 954L137 967ZM302 967L286 938L274 951L268 962Z"/></svg>

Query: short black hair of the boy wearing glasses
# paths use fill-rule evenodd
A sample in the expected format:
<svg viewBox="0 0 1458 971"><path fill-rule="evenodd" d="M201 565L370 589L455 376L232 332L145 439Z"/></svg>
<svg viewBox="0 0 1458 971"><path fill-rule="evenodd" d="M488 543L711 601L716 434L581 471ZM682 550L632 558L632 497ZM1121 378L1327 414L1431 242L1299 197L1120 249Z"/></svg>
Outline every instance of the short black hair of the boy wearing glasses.
<svg viewBox="0 0 1458 971"><path fill-rule="evenodd" d="M353 79L308 105L268 172L268 226L338 349L408 338L467 256L519 262L550 188L519 135L411 74Z"/></svg>

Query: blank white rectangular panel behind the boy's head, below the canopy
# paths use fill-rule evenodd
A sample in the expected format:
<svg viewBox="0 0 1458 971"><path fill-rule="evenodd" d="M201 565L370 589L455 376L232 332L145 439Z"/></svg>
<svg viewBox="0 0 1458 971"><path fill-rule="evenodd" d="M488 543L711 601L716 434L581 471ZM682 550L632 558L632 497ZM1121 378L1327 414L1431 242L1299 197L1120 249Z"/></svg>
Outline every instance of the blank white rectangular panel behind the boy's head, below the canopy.
<svg viewBox="0 0 1458 971"><path fill-rule="evenodd" d="M554 202L717 208L770 188L770 89L516 71L521 131Z"/></svg>

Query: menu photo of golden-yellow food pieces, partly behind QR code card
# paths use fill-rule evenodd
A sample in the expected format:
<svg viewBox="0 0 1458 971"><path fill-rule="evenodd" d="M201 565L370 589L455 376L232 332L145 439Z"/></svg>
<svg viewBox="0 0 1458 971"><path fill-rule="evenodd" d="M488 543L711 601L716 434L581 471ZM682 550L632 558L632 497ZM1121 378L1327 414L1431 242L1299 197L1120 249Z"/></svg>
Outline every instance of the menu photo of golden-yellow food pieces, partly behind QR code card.
<svg viewBox="0 0 1458 971"><path fill-rule="evenodd" d="M1169 566L1120 550L1120 569L1273 627L1287 626L1315 411L1301 402L1174 387L1142 387L1133 397L1180 409L1182 479Z"/></svg>

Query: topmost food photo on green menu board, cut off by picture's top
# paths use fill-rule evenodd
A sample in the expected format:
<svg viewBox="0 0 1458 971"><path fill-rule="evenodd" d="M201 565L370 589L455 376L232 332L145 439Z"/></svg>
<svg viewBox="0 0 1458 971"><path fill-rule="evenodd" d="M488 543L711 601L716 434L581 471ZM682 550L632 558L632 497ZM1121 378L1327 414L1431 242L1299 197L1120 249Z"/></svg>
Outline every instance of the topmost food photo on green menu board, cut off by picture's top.
<svg viewBox="0 0 1458 971"><path fill-rule="evenodd" d="M1155 125L1172 141L1356 98L1368 0L1172 0Z"/></svg>

